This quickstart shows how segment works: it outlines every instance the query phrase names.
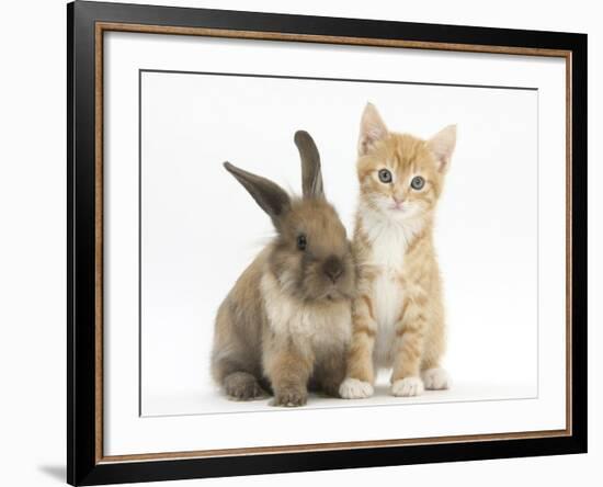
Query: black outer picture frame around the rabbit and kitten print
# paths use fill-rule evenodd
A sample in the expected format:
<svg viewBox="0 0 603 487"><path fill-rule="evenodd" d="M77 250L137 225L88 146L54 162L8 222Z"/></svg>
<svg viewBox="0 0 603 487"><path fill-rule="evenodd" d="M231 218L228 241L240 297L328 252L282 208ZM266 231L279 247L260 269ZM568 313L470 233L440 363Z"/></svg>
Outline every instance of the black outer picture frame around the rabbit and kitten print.
<svg viewBox="0 0 603 487"><path fill-rule="evenodd" d="M365 39L561 49L571 54L571 434L205 458L98 455L95 24L205 27ZM587 452L587 35L76 1L67 5L67 482L99 485ZM102 360L102 359L101 359ZM102 407L102 405L101 405Z"/></svg>

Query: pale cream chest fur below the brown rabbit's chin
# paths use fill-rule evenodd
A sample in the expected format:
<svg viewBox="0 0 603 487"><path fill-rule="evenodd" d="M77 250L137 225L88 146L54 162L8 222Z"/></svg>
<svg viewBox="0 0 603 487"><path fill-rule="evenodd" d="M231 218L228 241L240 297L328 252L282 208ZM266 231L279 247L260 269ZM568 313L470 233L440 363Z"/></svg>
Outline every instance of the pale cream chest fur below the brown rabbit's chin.
<svg viewBox="0 0 603 487"><path fill-rule="evenodd" d="M262 295L270 327L282 337L310 346L315 351L344 347L352 335L351 306L348 302L308 305L283 293L277 281L264 274Z"/></svg>

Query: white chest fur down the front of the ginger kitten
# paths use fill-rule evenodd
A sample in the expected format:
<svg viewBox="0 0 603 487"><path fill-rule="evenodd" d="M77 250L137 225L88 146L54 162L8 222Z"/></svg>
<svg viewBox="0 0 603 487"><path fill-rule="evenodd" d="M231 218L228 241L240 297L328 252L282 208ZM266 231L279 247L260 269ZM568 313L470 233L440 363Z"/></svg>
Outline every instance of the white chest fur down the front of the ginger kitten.
<svg viewBox="0 0 603 487"><path fill-rule="evenodd" d="M377 271L371 290L377 321L374 358L378 365L390 366L396 326L405 302L400 276L408 242L417 227L367 215L363 217L363 228L371 244L366 264Z"/></svg>

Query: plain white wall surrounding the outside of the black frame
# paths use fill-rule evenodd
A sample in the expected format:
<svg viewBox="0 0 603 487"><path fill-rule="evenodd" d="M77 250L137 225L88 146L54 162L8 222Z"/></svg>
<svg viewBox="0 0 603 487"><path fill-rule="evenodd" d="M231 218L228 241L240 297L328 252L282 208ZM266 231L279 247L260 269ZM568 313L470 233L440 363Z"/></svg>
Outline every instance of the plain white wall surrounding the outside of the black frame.
<svg viewBox="0 0 603 487"><path fill-rule="evenodd" d="M148 3L148 2L136 2ZM592 485L603 461L602 95L603 32L596 2L477 0L388 2L277 0L168 1L163 4L589 34L590 453L409 467L211 479L171 485L291 486L371 483L440 486ZM65 476L65 3L10 2L0 31L0 457L7 486L59 485ZM599 162L599 163L598 163ZM599 467L599 468L598 468Z"/></svg>

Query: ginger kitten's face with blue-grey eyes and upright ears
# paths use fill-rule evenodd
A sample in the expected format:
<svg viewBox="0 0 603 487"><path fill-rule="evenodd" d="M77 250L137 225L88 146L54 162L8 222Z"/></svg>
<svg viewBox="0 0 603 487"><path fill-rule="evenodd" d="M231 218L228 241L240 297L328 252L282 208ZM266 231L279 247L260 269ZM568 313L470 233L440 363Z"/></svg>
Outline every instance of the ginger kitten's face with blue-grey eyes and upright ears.
<svg viewBox="0 0 603 487"><path fill-rule="evenodd" d="M456 131L446 127L430 140L387 131L376 109L363 114L357 174L362 201L392 219L429 214L442 192Z"/></svg>

